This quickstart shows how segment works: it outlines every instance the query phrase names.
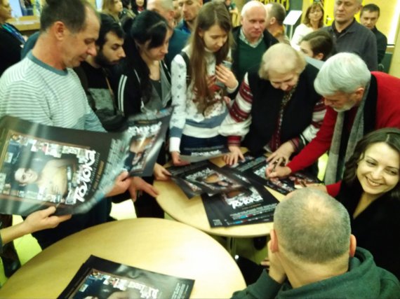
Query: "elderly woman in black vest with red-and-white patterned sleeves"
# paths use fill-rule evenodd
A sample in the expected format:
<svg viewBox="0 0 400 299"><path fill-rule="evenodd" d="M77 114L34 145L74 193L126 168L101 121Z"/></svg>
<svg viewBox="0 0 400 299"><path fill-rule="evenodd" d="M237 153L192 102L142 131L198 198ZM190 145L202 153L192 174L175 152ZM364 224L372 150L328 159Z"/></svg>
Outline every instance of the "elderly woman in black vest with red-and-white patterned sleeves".
<svg viewBox="0 0 400 299"><path fill-rule="evenodd" d="M231 151L225 162L243 159L243 145L255 154L267 149L272 153L269 161L286 163L311 141L325 114L313 85L317 73L291 46L278 43L270 47L260 69L245 75L221 125L220 134L228 136Z"/></svg>

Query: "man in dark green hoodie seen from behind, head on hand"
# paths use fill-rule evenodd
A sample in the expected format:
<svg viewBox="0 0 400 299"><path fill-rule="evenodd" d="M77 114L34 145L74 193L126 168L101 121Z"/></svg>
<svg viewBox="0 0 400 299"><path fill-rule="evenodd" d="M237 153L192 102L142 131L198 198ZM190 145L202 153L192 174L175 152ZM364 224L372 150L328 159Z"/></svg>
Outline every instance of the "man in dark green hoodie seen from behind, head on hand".
<svg viewBox="0 0 400 299"><path fill-rule="evenodd" d="M269 273L233 298L396 298L399 280L356 248L345 207L305 188L276 207Z"/></svg>

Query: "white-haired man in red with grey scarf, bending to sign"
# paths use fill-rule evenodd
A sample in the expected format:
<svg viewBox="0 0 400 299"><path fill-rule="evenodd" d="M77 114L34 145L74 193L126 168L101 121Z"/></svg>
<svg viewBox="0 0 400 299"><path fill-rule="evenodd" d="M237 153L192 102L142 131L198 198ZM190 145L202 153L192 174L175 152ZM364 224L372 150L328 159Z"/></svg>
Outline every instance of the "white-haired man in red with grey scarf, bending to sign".
<svg viewBox="0 0 400 299"><path fill-rule="evenodd" d="M325 183L328 193L335 196L357 141L382 127L400 128L400 79L368 71L358 55L338 53L325 62L314 87L327 106L321 129L288 165L274 171L269 168L267 175L284 177L298 172L329 150Z"/></svg>

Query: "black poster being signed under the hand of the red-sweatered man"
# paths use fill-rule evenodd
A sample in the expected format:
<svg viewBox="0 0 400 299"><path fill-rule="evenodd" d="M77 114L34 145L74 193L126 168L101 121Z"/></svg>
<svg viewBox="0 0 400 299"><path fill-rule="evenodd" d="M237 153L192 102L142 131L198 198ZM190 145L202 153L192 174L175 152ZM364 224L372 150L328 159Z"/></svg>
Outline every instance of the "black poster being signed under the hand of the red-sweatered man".
<svg viewBox="0 0 400 299"><path fill-rule="evenodd" d="M267 179L265 176L265 169L267 169L269 163L267 162L265 155L253 157L250 153L246 153L244 158L244 161L239 160L236 165L232 165L231 167L227 166L225 168L239 172L250 181L261 183L262 185L272 188L284 195L291 193L293 190L298 188L315 186L322 183L316 177L303 172L296 172L285 179Z"/></svg>

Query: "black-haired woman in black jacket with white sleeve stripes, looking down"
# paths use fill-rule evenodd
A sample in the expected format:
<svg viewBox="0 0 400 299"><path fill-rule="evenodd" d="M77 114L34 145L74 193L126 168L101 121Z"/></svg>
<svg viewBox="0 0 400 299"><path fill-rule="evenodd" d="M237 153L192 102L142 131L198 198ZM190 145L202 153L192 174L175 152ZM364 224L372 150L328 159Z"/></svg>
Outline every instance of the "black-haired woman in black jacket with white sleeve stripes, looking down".
<svg viewBox="0 0 400 299"><path fill-rule="evenodd" d="M138 113L156 113L171 102L171 79L164 64L172 29L166 20L154 11L144 11L126 25L124 50L126 60L121 63L118 84L118 106L126 117ZM169 172L162 167L166 163L161 147L159 164L154 167L156 179L168 179ZM145 178L152 183L154 177ZM144 194L143 196L149 197ZM135 203L139 216L164 218L164 211L154 197L142 198Z"/></svg>

